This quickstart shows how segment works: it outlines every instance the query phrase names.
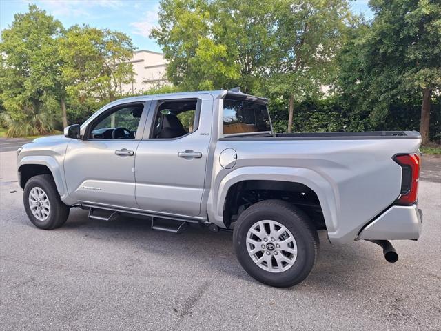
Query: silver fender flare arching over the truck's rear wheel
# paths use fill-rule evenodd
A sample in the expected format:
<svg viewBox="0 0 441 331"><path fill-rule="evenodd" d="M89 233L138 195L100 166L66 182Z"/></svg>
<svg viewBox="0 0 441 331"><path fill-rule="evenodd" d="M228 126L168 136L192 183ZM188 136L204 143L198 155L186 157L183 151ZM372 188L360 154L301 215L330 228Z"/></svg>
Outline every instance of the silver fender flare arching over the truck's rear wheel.
<svg viewBox="0 0 441 331"><path fill-rule="evenodd" d="M294 167L243 167L229 172L221 179L214 179L213 188L208 198L208 216L210 221L216 225L225 228L223 223L223 209L227 192L232 185L240 181L263 180L263 181L289 181L292 183L301 183L313 190L320 201L323 217L328 233L331 234L337 230L338 205L338 187L330 179L322 176L318 172L307 168Z"/></svg>

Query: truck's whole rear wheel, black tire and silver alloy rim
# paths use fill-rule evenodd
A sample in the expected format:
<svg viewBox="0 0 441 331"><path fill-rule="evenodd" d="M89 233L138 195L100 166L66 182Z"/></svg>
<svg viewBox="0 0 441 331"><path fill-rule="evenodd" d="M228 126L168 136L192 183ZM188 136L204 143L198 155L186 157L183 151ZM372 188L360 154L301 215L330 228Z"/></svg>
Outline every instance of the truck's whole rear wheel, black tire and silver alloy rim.
<svg viewBox="0 0 441 331"><path fill-rule="evenodd" d="M307 215L280 200L260 201L236 222L234 248L254 279L287 288L303 281L318 254L318 235Z"/></svg>

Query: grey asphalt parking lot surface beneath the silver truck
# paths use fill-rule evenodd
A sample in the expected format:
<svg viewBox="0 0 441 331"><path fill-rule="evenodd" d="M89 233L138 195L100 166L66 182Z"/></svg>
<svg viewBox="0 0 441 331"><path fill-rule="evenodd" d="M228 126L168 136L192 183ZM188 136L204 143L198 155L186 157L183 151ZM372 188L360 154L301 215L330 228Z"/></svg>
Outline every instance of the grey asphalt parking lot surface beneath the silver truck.
<svg viewBox="0 0 441 331"><path fill-rule="evenodd" d="M15 152L0 152L0 330L441 330L441 159L427 160L423 234L393 242L397 263L320 234L309 278L276 289L240 267L228 232L156 232L76 209L63 228L38 230Z"/></svg>

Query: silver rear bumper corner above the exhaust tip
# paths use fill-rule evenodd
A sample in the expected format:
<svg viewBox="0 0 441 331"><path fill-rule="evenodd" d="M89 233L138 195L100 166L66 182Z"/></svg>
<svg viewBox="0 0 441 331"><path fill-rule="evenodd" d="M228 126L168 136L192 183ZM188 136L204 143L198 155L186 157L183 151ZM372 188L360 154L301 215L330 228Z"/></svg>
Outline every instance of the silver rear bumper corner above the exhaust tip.
<svg viewBox="0 0 441 331"><path fill-rule="evenodd" d="M418 239L422 211L416 205L393 205L358 234L356 240Z"/></svg>

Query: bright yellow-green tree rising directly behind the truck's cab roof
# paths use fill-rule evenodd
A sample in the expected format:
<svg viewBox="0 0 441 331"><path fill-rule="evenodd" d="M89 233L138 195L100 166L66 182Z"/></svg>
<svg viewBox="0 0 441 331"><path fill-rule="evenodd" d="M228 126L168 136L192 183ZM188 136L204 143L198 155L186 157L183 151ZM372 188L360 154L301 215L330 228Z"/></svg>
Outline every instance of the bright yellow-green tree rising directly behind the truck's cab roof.
<svg viewBox="0 0 441 331"><path fill-rule="evenodd" d="M187 90L255 90L274 42L274 1L163 0L152 37Z"/></svg>

